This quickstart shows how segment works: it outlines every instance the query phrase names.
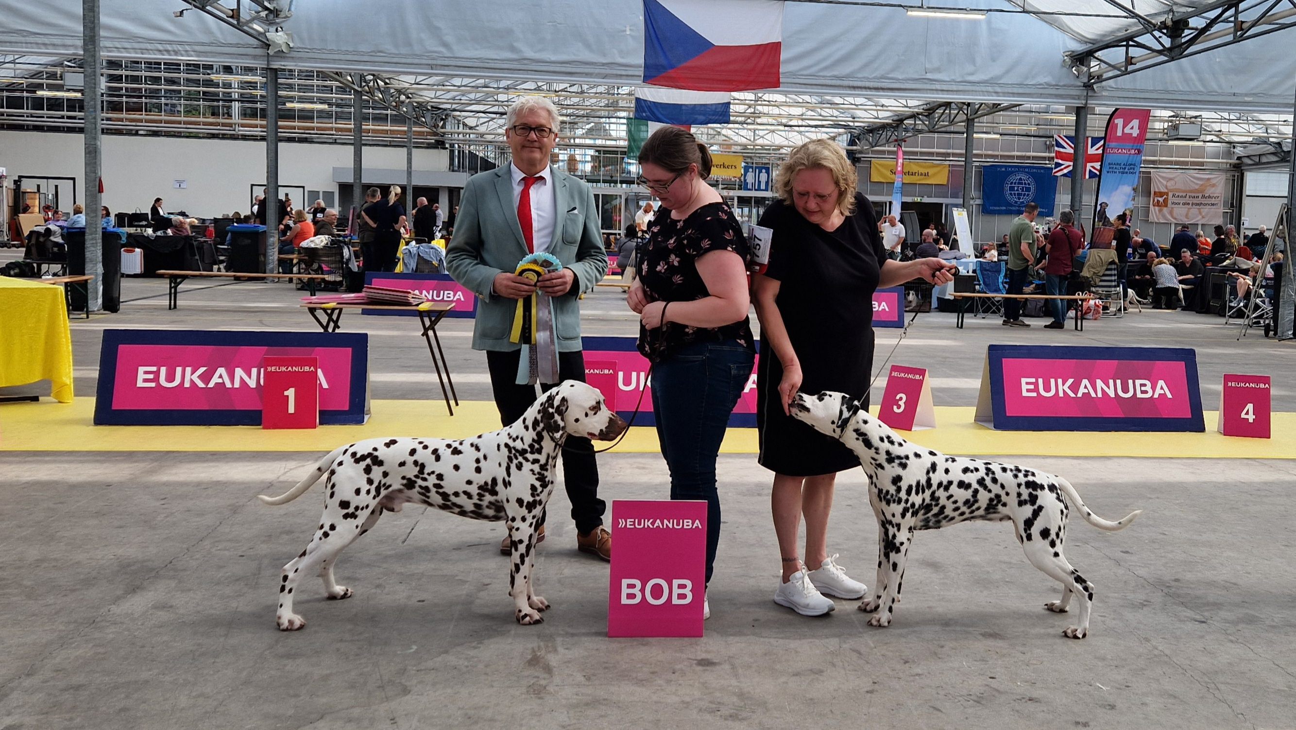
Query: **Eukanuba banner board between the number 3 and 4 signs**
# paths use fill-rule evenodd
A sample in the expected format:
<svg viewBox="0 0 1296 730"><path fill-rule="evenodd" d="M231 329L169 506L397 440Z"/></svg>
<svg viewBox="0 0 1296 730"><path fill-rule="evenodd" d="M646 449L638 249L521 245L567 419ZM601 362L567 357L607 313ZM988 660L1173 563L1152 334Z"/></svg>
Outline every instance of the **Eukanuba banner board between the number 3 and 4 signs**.
<svg viewBox="0 0 1296 730"><path fill-rule="evenodd" d="M1204 432L1196 351L990 345L976 420L1007 430Z"/></svg>

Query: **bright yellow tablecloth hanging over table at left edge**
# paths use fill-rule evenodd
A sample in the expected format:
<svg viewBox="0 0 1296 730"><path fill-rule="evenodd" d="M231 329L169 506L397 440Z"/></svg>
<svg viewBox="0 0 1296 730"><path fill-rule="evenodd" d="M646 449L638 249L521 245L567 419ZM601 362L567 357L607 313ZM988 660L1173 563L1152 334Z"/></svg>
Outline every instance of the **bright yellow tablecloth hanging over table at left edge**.
<svg viewBox="0 0 1296 730"><path fill-rule="evenodd" d="M64 288L0 276L0 388L38 380L53 384L60 403L73 399L73 336Z"/></svg>

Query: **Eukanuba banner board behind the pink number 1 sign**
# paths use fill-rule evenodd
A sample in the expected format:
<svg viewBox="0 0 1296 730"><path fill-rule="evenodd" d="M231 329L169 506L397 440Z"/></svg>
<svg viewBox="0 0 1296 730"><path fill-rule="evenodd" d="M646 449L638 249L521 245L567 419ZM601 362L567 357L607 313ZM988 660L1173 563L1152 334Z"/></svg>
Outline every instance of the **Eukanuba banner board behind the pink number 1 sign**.
<svg viewBox="0 0 1296 730"><path fill-rule="evenodd" d="M105 329L95 424L260 425L267 357L318 359L320 424L368 419L368 335Z"/></svg>

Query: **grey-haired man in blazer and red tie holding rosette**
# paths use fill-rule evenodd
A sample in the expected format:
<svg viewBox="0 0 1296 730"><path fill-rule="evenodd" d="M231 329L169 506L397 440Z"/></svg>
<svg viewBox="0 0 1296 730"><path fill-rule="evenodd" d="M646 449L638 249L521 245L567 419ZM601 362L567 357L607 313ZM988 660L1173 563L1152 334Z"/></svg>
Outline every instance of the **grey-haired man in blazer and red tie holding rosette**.
<svg viewBox="0 0 1296 730"><path fill-rule="evenodd" d="M504 137L513 161L468 180L459 201L455 237L446 246L450 275L478 297L473 349L486 351L495 407L505 425L520 419L538 398L534 385L517 384L521 345L509 341L517 300L531 296L537 288L552 297L559 380L583 383L577 300L594 290L608 272L599 209L590 185L550 165L560 124L557 109L544 97L522 97L509 106ZM513 272L522 258L537 252L557 257L562 268L531 284ZM555 385L546 383L542 388L548 390ZM588 438L568 437L562 471L577 548L610 560L612 536L603 526L605 504L599 499L599 467ZM538 541L542 539L543 520ZM509 552L507 536L500 552Z"/></svg>

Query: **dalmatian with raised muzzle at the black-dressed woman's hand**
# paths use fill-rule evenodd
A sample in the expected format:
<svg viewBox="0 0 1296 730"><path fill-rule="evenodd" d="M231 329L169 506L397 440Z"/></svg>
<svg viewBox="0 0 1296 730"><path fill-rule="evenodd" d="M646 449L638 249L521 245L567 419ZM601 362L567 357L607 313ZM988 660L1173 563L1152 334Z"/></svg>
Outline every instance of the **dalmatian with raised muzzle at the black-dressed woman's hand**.
<svg viewBox="0 0 1296 730"><path fill-rule="evenodd" d="M1116 523L1104 520L1061 477L915 446L842 393L798 393L791 410L797 420L849 446L868 475L868 503L877 517L877 581L859 609L874 613L871 626L890 625L914 530L967 520L1012 520L1030 564L1063 585L1061 599L1045 608L1065 613L1074 598L1080 621L1063 634L1073 639L1089 634L1094 585L1063 555L1067 515L1076 508L1086 523L1115 532L1129 526L1142 510Z"/></svg>

